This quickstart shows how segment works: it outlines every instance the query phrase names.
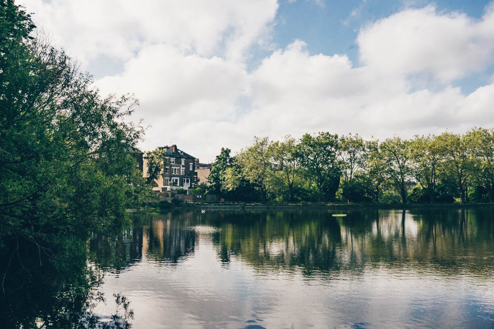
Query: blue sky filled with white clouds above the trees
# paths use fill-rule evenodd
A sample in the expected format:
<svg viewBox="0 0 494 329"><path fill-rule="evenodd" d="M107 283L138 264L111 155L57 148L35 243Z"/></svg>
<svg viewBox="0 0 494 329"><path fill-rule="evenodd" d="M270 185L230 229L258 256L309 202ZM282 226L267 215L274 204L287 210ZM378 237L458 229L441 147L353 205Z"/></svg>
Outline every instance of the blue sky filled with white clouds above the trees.
<svg viewBox="0 0 494 329"><path fill-rule="evenodd" d="M211 162L254 136L494 126L494 1L17 3L102 95L139 99L143 150Z"/></svg>

